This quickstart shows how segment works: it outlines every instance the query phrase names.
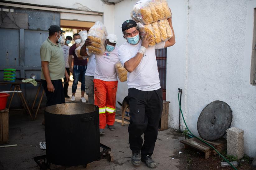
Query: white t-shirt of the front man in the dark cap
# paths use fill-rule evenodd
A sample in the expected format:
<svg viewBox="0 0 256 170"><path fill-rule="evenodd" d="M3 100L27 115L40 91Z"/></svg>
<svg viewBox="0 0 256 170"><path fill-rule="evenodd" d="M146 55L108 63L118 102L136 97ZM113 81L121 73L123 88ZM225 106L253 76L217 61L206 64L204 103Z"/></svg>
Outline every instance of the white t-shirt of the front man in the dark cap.
<svg viewBox="0 0 256 170"><path fill-rule="evenodd" d="M124 66L124 63L135 57L141 47L142 40L136 45L123 43L118 48L119 60ZM137 68L127 74L128 88L136 88L142 91L153 91L160 87L159 73L157 69L157 61L155 49L164 48L165 42L148 47Z"/></svg>

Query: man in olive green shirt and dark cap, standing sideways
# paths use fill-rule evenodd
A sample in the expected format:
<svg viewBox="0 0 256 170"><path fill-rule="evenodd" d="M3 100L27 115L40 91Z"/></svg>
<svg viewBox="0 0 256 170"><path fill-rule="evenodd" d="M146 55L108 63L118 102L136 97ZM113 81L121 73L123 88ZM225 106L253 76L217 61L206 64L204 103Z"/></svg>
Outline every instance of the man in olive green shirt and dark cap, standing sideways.
<svg viewBox="0 0 256 170"><path fill-rule="evenodd" d="M65 69L63 50L60 45L62 33L58 25L51 25L49 37L40 48L41 57L41 82L47 98L46 106L65 103L62 78L65 75L67 82L69 74Z"/></svg>

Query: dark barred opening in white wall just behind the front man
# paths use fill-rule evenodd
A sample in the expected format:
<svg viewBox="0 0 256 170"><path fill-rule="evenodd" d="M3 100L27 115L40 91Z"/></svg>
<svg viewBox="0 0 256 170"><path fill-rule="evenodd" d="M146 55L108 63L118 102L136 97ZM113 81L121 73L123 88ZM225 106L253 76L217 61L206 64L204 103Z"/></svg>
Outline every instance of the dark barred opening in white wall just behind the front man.
<svg viewBox="0 0 256 170"><path fill-rule="evenodd" d="M163 91L163 100L166 100L166 48L155 50L160 85Z"/></svg>

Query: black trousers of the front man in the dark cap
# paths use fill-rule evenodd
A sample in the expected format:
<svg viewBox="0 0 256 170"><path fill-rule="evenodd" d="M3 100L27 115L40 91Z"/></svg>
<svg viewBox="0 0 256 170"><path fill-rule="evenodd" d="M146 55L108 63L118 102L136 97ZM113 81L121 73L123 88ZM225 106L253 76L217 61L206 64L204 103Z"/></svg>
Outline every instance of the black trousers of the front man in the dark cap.
<svg viewBox="0 0 256 170"><path fill-rule="evenodd" d="M130 149L142 156L153 154L158 135L158 126L163 111L162 89L141 91L130 88L130 124L128 127ZM144 143L141 135L144 133ZM143 144L143 145L142 145Z"/></svg>

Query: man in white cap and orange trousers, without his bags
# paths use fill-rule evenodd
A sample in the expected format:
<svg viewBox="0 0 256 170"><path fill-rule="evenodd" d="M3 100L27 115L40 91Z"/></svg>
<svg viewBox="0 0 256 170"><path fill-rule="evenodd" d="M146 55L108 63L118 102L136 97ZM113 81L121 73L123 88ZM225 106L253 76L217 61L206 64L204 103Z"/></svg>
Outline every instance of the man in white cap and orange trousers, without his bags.
<svg viewBox="0 0 256 170"><path fill-rule="evenodd" d="M106 124L109 130L115 130L116 113L116 91L117 75L115 65L119 61L118 47L116 45L117 36L109 34L106 40L106 51L103 55L95 54L96 67L94 73L94 105L99 106L100 117L100 135L105 134ZM81 56L91 56L86 50L86 46L91 45L90 39L87 39L81 47Z"/></svg>

